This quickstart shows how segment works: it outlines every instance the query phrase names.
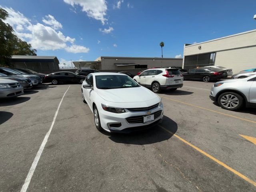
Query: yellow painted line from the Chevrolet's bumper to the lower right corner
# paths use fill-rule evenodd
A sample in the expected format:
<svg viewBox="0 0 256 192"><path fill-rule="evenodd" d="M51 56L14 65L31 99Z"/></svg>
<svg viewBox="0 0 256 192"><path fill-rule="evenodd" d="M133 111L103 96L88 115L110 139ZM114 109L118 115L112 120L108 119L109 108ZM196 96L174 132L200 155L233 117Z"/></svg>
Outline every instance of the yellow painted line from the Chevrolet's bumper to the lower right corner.
<svg viewBox="0 0 256 192"><path fill-rule="evenodd" d="M158 125L160 126L160 125ZM187 142L186 140L182 139L180 136L174 134L173 132L167 130L166 128L164 128L163 126L160 126L162 129L164 129L165 131L167 131L168 133L172 134L173 136L175 136L176 138L178 138L179 140L181 140L182 142L188 144L189 146L191 146L192 148L194 148L195 150L199 151L200 153L204 154L205 156L207 156L208 158L214 160L216 163L224 166L224 168L230 170L231 172L233 172L234 174L236 174L237 176L239 176L240 178L246 180L247 182L249 182L250 184L253 184L254 186L256 186L256 182L254 182L253 180L249 179L248 177L244 176L243 174L241 174L240 172L232 169L230 166L227 166L226 164L222 163L221 161L219 161L218 159L214 158L213 156L211 156L210 154L204 152L203 150L201 150L200 148L192 145L190 142Z"/></svg>

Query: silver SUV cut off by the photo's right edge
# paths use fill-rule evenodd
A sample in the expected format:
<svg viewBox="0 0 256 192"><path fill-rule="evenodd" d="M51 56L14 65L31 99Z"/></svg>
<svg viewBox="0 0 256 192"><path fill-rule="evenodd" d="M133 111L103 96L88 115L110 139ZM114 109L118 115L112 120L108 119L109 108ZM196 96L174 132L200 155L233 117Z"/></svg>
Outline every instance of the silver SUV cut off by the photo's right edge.
<svg viewBox="0 0 256 192"><path fill-rule="evenodd" d="M227 110L256 107L256 75L214 83L210 98Z"/></svg>

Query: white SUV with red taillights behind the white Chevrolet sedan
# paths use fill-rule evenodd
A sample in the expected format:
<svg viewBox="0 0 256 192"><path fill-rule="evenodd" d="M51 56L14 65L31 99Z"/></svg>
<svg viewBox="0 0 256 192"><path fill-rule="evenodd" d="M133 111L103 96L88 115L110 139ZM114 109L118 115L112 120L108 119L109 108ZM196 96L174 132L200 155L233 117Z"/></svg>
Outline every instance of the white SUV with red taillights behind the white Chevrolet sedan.
<svg viewBox="0 0 256 192"><path fill-rule="evenodd" d="M183 86L183 75L175 68L148 69L133 79L154 93L159 93L163 89L176 90Z"/></svg>

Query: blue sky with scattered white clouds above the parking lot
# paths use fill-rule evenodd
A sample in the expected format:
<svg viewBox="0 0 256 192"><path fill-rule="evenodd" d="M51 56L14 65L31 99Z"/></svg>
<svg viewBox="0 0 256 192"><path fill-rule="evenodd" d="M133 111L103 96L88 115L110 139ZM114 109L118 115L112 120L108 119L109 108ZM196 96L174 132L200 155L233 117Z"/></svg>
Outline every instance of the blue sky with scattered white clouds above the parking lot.
<svg viewBox="0 0 256 192"><path fill-rule="evenodd" d="M2 0L16 34L63 63L183 56L185 43L256 29L255 0Z"/></svg>

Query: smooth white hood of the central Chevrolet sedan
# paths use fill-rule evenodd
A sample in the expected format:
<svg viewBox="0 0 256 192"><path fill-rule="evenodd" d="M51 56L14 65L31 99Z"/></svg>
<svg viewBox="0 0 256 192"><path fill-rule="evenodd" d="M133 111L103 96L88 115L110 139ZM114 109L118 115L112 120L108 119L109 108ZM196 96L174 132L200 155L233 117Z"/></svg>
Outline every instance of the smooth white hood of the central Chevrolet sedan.
<svg viewBox="0 0 256 192"><path fill-rule="evenodd" d="M117 103L144 102L159 98L158 95L144 87L98 89L97 93L104 100Z"/></svg>

